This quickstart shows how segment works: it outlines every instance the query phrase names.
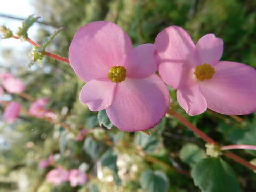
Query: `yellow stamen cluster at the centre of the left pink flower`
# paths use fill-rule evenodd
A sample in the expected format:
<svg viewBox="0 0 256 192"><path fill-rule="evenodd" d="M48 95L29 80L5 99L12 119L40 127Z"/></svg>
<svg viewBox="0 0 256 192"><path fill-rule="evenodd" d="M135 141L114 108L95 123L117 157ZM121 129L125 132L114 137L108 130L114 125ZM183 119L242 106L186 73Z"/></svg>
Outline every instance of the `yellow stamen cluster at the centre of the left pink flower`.
<svg viewBox="0 0 256 192"><path fill-rule="evenodd" d="M124 81L126 77L126 69L123 66L114 66L109 69L108 78L115 83Z"/></svg>

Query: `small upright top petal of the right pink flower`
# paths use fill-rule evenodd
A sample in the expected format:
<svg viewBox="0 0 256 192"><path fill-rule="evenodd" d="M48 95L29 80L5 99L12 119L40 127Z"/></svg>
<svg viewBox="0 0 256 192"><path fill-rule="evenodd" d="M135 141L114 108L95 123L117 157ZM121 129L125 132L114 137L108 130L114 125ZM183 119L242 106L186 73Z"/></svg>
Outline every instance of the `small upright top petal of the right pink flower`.
<svg viewBox="0 0 256 192"><path fill-rule="evenodd" d="M198 65L207 63L214 66L222 56L223 41L214 34L204 35L196 43L196 51L200 60Z"/></svg>

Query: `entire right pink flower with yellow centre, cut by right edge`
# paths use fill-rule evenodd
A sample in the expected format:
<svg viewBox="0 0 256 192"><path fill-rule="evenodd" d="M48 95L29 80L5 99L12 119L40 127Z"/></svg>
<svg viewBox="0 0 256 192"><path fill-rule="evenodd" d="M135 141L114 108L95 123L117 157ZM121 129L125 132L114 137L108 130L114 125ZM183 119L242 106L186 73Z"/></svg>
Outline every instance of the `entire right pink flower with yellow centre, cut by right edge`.
<svg viewBox="0 0 256 192"><path fill-rule="evenodd" d="M222 39L207 34L194 45L184 29L170 26L157 35L155 45L159 74L178 89L177 100L189 115L207 107L227 115L256 110L256 71L242 63L219 61Z"/></svg>

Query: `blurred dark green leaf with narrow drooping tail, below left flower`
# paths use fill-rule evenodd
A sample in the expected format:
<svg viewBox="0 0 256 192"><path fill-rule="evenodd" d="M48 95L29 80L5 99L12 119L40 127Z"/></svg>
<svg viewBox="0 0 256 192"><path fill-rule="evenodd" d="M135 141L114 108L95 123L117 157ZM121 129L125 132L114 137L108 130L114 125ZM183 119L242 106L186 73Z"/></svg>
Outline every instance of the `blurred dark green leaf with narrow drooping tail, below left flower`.
<svg viewBox="0 0 256 192"><path fill-rule="evenodd" d="M113 176L116 181L116 184L121 185L121 179L118 176L118 169L116 166L117 156L114 154L112 149L107 150L102 155L102 166L107 166L109 169L113 171Z"/></svg>

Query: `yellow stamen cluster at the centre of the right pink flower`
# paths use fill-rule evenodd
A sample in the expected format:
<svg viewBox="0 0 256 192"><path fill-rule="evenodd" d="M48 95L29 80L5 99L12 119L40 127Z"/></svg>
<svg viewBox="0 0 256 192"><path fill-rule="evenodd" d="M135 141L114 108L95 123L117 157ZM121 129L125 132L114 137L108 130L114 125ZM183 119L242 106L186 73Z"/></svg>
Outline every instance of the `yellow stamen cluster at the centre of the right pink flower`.
<svg viewBox="0 0 256 192"><path fill-rule="evenodd" d="M211 79L214 73L214 68L206 63L204 63L203 65L198 65L194 71L196 78L200 81L204 81L205 79Z"/></svg>

